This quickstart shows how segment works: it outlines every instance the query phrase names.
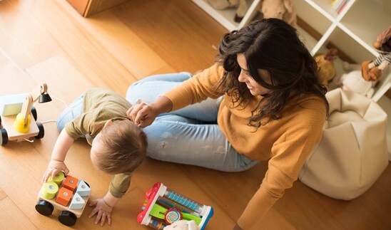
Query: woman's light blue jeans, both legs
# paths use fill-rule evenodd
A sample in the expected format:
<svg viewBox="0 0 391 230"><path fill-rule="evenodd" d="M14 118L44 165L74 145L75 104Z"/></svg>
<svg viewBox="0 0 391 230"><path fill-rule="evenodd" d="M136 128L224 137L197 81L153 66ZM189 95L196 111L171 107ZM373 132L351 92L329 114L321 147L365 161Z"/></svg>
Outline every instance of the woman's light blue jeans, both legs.
<svg viewBox="0 0 391 230"><path fill-rule="evenodd" d="M152 75L133 83L126 93L132 105L138 100L152 103L164 93L191 78L190 73ZM223 97L204 100L156 117L143 130L148 137L147 155L156 160L192 164L225 172L240 172L257 161L240 155L217 125Z"/></svg>

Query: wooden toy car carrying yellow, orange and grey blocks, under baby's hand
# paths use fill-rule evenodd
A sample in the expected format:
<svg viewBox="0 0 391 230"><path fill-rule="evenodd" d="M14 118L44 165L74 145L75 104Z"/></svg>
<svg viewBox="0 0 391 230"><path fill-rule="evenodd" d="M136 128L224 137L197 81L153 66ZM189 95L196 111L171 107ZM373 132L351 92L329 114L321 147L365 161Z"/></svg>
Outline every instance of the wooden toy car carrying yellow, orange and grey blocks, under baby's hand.
<svg viewBox="0 0 391 230"><path fill-rule="evenodd" d="M40 214L49 216L55 207L61 211L61 224L72 226L83 214L90 194L91 189L86 182L60 172L42 185L35 209Z"/></svg>

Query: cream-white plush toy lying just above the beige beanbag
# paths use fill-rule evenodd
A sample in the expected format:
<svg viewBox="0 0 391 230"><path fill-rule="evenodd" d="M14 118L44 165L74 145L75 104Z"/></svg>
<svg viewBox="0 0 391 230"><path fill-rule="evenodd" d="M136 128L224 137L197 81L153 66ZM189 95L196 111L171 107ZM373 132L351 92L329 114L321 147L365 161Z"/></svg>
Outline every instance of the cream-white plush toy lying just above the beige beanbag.
<svg viewBox="0 0 391 230"><path fill-rule="evenodd" d="M360 70L345 73L340 80L342 90L350 90L360 95L365 95L367 98L372 98L373 93L375 93L375 90L372 88L372 82L362 78Z"/></svg>

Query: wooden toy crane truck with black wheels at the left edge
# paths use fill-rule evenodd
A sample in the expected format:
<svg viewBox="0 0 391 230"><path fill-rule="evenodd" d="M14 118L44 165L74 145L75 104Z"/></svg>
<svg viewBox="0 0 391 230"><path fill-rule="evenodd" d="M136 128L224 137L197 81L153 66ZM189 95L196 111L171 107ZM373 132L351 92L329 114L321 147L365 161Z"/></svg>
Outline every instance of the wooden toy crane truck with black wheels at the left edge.
<svg viewBox="0 0 391 230"><path fill-rule="evenodd" d="M41 83L31 93L0 97L0 145L9 140L29 140L30 137L44 137L44 125L36 122L36 110L32 106L51 101L46 83Z"/></svg>

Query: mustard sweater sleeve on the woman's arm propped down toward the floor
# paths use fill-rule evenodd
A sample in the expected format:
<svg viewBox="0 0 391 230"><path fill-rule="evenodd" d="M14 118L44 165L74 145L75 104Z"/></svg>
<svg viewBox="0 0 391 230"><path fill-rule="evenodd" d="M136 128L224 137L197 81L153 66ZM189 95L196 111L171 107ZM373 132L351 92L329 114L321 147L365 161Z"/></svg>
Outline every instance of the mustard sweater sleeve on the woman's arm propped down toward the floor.
<svg viewBox="0 0 391 230"><path fill-rule="evenodd" d="M283 197L285 189L293 186L305 159L322 138L324 117L324 106L311 108L292 115L289 122L280 127L285 132L272 147L273 157L268 162L263 182L238 219L242 229L259 226L257 222Z"/></svg>

